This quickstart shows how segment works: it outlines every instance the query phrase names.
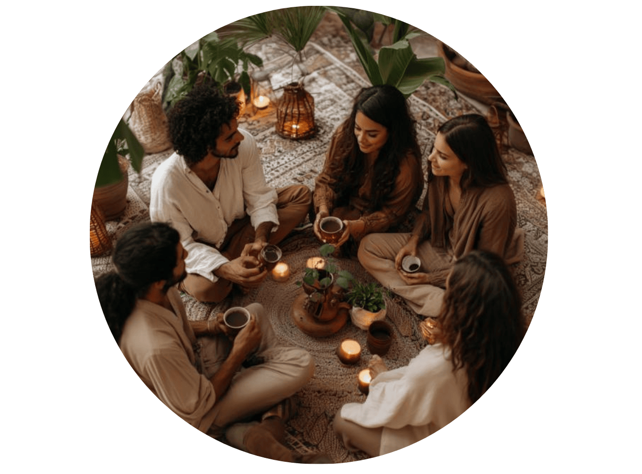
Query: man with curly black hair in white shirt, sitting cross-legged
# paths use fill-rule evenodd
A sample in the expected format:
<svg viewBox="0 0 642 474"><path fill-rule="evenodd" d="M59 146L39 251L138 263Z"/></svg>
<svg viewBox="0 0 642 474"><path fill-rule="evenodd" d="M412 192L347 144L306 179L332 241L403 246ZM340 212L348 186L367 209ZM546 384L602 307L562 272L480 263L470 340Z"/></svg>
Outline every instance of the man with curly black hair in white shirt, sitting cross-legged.
<svg viewBox="0 0 642 474"><path fill-rule="evenodd" d="M189 256L180 290L218 303L234 285L261 285L257 256L279 243L311 205L307 186L273 189L254 137L238 128L238 102L195 87L168 115L175 153L152 178L150 216L180 233Z"/></svg>

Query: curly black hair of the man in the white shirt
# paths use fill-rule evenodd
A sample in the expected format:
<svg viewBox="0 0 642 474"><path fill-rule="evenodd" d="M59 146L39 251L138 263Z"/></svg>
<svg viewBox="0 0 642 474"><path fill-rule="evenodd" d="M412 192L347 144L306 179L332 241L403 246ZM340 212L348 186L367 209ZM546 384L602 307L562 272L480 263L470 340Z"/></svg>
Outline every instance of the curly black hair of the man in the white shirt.
<svg viewBox="0 0 642 474"><path fill-rule="evenodd" d="M233 96L225 96L209 85L198 85L169 110L168 125L174 150L184 157L187 166L216 150L221 125L230 123L239 113Z"/></svg>

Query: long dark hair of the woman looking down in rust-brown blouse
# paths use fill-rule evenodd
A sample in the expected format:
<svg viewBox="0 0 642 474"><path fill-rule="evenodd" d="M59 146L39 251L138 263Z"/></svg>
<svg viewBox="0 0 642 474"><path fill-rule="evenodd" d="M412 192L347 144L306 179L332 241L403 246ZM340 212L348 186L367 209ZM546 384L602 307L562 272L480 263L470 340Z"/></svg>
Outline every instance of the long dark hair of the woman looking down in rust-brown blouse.
<svg viewBox="0 0 642 474"><path fill-rule="evenodd" d="M336 130L336 152L341 157L341 170L336 176L342 177L334 192L338 196L338 206L347 204L354 183L368 171L363 153L359 150L356 136L354 136L354 121L357 112L388 130L388 139L379 150L379 155L374 163L373 181L376 186L372 188L370 211L377 211L394 189L395 180L399 175L399 165L408 155L413 154L413 159L421 161L421 150L417 143L417 130L415 121L410 115L408 101L399 89L392 85L374 85L361 89L354 99L350 116L343 121ZM421 195L419 187L417 199Z"/></svg>

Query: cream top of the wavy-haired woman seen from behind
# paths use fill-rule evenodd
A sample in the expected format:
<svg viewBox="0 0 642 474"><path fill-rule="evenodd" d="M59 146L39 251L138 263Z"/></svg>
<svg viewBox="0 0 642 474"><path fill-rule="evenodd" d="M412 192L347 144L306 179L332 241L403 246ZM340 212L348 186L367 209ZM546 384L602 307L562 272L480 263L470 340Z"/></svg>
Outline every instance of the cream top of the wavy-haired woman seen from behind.
<svg viewBox="0 0 642 474"><path fill-rule="evenodd" d="M368 398L346 403L341 416L365 428L383 426L380 456L421 441L471 407L465 371L453 372L448 356L441 344L425 347L405 367L377 375Z"/></svg>

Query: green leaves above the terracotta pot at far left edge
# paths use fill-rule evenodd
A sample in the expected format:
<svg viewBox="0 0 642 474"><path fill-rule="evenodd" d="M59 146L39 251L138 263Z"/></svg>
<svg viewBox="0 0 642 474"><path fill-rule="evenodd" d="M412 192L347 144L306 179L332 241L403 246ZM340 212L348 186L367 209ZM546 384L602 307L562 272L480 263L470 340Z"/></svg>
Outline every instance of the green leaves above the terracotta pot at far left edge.
<svg viewBox="0 0 642 474"><path fill-rule="evenodd" d="M132 163L134 170L140 173L144 154L143 146L136 139L123 118L121 118L107 143L94 186L96 188L107 186L107 184L114 184L123 178L118 165L118 155L124 157L129 155L129 161Z"/></svg>

